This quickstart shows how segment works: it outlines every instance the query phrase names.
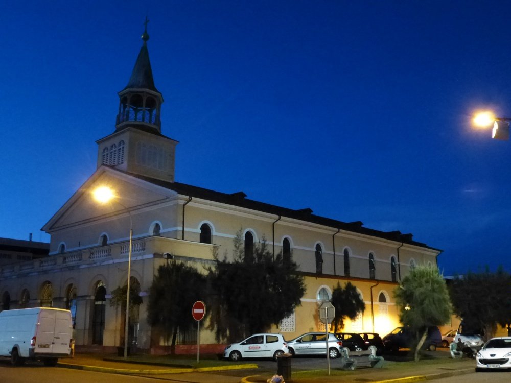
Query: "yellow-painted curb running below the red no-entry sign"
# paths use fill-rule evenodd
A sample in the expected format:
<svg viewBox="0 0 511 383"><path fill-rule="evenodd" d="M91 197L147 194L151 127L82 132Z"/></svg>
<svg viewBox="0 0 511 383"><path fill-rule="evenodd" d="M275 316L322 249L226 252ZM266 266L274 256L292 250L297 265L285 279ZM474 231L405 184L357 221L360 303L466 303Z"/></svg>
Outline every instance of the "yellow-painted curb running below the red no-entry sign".
<svg viewBox="0 0 511 383"><path fill-rule="evenodd" d="M69 368L74 370L104 372L109 374L121 375L161 375L161 374L183 374L187 372L211 372L211 371L225 371L225 370L242 370L249 368L258 368L257 364L245 364L234 366L217 366L217 367L199 367L199 368L173 368L173 369L158 369L158 370L133 370L133 369L119 369L99 366L86 366L75 365L72 363L58 363L58 367Z"/></svg>

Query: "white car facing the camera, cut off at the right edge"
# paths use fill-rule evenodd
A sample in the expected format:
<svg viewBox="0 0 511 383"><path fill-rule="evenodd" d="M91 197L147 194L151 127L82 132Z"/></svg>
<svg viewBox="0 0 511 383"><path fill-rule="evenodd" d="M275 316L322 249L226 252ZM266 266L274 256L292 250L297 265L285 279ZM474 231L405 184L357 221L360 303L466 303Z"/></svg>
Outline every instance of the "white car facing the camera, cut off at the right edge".
<svg viewBox="0 0 511 383"><path fill-rule="evenodd" d="M476 371L511 368L511 337L492 338L476 354Z"/></svg>

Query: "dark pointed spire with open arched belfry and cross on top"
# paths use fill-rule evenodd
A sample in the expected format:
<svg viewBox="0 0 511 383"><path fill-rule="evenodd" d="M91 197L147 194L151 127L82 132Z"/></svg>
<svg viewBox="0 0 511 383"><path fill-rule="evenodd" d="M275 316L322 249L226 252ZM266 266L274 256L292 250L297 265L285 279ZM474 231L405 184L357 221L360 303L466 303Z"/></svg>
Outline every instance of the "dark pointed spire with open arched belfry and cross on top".
<svg viewBox="0 0 511 383"><path fill-rule="evenodd" d="M144 44L138 53L128 85L118 93L120 104L115 125L116 131L133 126L145 131L161 133L160 106L163 103L163 97L154 85L151 62L149 61L148 22L146 16L142 34Z"/></svg>

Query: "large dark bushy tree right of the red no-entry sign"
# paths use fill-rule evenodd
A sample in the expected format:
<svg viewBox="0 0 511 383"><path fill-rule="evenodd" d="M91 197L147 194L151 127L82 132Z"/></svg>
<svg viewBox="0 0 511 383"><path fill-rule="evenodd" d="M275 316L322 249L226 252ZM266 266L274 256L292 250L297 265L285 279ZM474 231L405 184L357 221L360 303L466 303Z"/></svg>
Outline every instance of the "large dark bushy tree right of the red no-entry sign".
<svg viewBox="0 0 511 383"><path fill-rule="evenodd" d="M210 328L219 342L239 341L278 325L293 313L305 294L296 263L283 262L282 254L273 259L264 238L254 244L250 259L245 259L240 230L234 238L232 261L227 260L227 254L223 259L216 253L214 257L216 265L210 269L214 294Z"/></svg>

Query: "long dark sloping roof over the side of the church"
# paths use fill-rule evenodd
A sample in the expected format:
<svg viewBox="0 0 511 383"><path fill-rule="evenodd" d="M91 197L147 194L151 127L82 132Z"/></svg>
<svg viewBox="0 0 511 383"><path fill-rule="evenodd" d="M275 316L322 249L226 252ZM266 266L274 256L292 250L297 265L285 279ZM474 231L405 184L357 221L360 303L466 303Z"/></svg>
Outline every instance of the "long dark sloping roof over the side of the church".
<svg viewBox="0 0 511 383"><path fill-rule="evenodd" d="M120 171L119 169L115 169ZM122 171L121 171L122 172ZM396 241L401 243L406 243L409 245L420 246L424 248L428 248L435 251L442 251L439 249L435 249L433 247L429 247L424 243L413 241L412 234L402 234L400 231L379 231L374 229L369 229L367 227L363 227L363 223L361 221L356 222L342 222L333 220L326 217L316 216L313 214L312 209L304 208L293 210L286 207L270 205L264 202L254 201L246 198L246 194L243 192L237 193L221 193L215 192L215 190L205 189L198 186L192 186L180 182L167 182L158 179L154 179L151 177L146 177L138 174L128 173L131 176L142 179L144 181L150 182L152 184L165 187L170 190L174 190L178 194L189 196L192 198L201 198L208 201L215 201L219 203L224 203L227 205L239 206L251 210L262 211L269 214L275 214L276 216L292 218L300 221L311 222L319 225L329 226L334 229L351 231L354 233L360 233L365 235L376 236L379 238L384 238L389 241Z"/></svg>

